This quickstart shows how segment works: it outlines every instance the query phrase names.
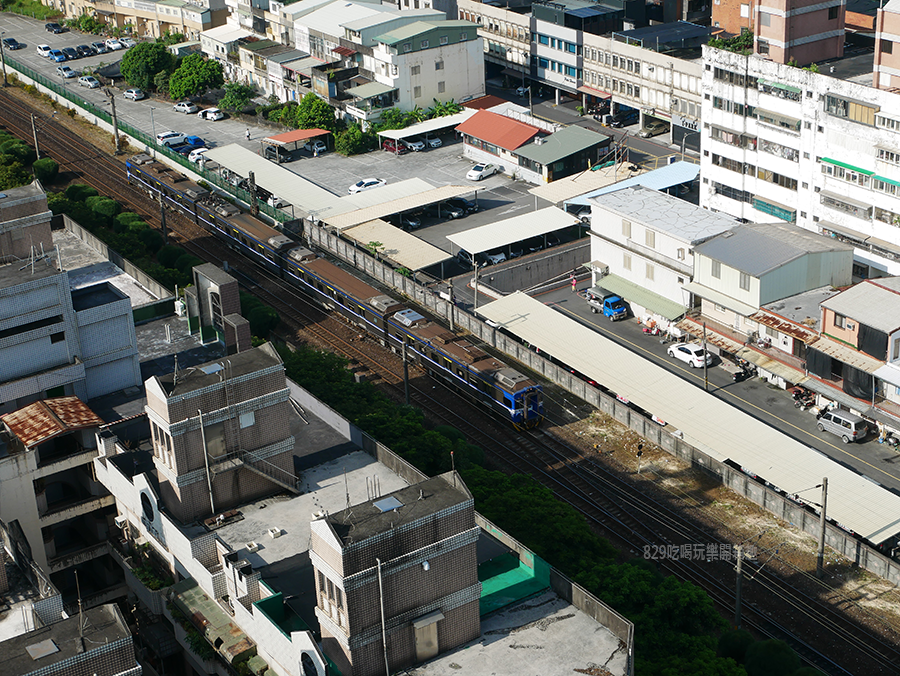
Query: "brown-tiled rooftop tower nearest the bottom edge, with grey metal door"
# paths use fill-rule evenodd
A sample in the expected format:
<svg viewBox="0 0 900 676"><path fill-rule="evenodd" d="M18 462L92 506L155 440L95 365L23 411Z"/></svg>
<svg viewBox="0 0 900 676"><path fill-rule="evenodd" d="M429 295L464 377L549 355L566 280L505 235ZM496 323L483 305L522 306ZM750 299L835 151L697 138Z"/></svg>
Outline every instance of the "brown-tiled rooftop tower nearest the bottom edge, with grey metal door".
<svg viewBox="0 0 900 676"><path fill-rule="evenodd" d="M316 616L342 674L411 666L480 635L478 536L455 472L313 521Z"/></svg>

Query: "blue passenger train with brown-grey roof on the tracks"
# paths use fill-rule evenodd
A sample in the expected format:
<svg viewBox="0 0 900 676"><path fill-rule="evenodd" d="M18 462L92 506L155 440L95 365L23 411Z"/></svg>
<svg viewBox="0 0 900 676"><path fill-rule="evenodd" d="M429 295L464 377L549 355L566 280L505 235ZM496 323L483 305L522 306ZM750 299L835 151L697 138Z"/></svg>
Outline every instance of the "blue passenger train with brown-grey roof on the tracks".
<svg viewBox="0 0 900 676"><path fill-rule="evenodd" d="M439 322L428 319L329 260L238 209L149 155L125 163L129 182L193 220L229 247L252 257L301 288L322 307L340 313L395 353L516 428L544 417L543 388Z"/></svg>

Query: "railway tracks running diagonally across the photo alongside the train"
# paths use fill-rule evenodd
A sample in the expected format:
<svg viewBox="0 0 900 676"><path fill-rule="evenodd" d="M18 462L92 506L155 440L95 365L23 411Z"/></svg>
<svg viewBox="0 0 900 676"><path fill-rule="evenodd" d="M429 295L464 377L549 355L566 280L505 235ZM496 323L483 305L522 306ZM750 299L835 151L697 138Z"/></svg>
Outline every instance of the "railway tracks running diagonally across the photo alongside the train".
<svg viewBox="0 0 900 676"><path fill-rule="evenodd" d="M31 129L27 120L30 120L31 110L5 92L0 92L0 102L3 104L0 105L0 121L16 136L28 141ZM79 174L85 183L105 194L114 194L148 223L159 225L158 203L142 189L128 183L121 162L97 151L55 121L45 125L42 136L45 150L49 149L57 159L61 171ZM371 340L358 340L359 331L343 318L324 312L299 289L269 276L252 259L212 238L189 219L175 215L167 220L171 229L180 234L180 243L188 251L215 263L237 259L237 268L245 285L278 310L287 323L365 365L383 378L388 387L394 388L396 396L400 396L403 391L402 363L396 356L385 359L383 354L373 350L375 346ZM478 406L466 401L461 404L464 412L459 412L447 405L444 397L439 398L413 383L410 384L410 398L435 419L463 431L496 462L535 477L608 537L635 553L659 545L679 548L727 545L710 538L683 515L648 499L617 474L546 432L512 433L484 416ZM664 559L659 565L666 572L704 588L721 608L733 607L734 590L728 583L734 577L732 564L676 558ZM788 641L807 663L826 673L896 673L900 651L895 644L873 636L831 606L798 593L789 583L770 575L763 566L753 562L744 565L746 577L753 580L752 584L747 584L745 592L746 626L762 636ZM778 603L774 603L774 599ZM787 621L773 619L779 615L788 618L791 627L785 626ZM801 627L804 630L802 638L797 635ZM839 661L825 654L828 648L835 646L840 646L839 652L843 656Z"/></svg>

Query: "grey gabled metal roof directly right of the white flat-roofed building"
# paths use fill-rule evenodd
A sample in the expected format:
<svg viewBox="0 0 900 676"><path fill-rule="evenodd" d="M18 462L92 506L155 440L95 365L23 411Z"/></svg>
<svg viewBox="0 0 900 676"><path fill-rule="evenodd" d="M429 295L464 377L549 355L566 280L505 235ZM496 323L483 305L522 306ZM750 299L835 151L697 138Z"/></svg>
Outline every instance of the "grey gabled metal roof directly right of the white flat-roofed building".
<svg viewBox="0 0 900 676"><path fill-rule="evenodd" d="M853 251L853 247L789 223L745 223L728 236L694 247L695 254L760 277L810 252Z"/></svg>

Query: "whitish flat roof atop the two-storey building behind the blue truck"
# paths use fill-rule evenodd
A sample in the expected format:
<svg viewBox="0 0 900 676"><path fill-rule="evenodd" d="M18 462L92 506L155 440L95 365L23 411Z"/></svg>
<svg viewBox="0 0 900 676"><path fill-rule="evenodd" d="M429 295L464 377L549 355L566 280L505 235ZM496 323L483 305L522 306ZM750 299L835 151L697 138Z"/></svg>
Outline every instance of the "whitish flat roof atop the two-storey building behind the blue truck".
<svg viewBox="0 0 900 676"><path fill-rule="evenodd" d="M715 237L738 225L738 222L730 216L703 209L696 204L641 185L608 192L594 197L590 203L691 245ZM593 227L597 229L601 225Z"/></svg>

